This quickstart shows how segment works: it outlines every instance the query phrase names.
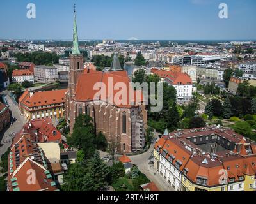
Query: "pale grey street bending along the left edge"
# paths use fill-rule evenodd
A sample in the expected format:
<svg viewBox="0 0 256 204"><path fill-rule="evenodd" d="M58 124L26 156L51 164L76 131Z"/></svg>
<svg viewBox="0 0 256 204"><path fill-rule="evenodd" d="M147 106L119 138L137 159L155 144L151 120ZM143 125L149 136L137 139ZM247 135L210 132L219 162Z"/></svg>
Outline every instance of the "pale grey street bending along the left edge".
<svg viewBox="0 0 256 204"><path fill-rule="evenodd" d="M10 126L6 129L4 129L0 133L0 161L1 161L1 156L7 151L7 149L10 147L12 143L12 138L15 135L15 133L19 132L24 124L26 123L24 117L20 115L20 110L19 107L14 105L12 99L10 98L9 95L6 95L6 101L9 105L10 110L12 111L12 117L16 118L17 120L13 122L13 126ZM12 136L10 136L12 135Z"/></svg>

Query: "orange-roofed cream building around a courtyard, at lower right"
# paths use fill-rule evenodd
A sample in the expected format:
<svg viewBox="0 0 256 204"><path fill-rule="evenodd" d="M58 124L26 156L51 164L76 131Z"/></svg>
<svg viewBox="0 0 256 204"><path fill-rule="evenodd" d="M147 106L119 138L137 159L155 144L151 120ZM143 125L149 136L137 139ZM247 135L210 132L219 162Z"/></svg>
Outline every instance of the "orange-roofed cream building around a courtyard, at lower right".
<svg viewBox="0 0 256 204"><path fill-rule="evenodd" d="M170 133L154 146L155 168L176 191L255 191L256 142L225 128Z"/></svg>

